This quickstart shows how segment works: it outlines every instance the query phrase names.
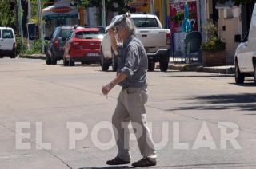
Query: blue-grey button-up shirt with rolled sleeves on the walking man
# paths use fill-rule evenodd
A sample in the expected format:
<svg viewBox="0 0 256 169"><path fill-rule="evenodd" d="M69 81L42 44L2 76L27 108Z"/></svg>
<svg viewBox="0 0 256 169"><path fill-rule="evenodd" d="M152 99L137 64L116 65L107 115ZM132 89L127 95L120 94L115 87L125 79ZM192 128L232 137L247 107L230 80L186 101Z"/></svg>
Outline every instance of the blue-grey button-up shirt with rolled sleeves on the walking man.
<svg viewBox="0 0 256 169"><path fill-rule="evenodd" d="M142 42L131 35L118 47L118 73L126 73L127 77L120 84L123 88L142 88L147 85L146 70L148 59Z"/></svg>

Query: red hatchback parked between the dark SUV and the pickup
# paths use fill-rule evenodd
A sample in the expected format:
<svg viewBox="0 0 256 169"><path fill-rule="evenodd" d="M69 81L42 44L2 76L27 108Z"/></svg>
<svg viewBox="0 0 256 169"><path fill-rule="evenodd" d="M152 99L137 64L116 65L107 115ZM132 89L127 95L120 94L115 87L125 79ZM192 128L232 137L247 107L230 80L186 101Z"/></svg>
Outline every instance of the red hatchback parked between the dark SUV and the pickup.
<svg viewBox="0 0 256 169"><path fill-rule="evenodd" d="M76 61L82 64L100 62L103 37L100 28L75 28L64 46L63 65L74 66Z"/></svg>

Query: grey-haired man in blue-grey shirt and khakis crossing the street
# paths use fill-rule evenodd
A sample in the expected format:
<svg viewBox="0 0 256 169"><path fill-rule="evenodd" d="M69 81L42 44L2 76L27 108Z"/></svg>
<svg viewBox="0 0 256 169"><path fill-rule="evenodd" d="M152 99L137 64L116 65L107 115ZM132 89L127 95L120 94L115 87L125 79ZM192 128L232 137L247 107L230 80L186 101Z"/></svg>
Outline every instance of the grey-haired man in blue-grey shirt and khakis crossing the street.
<svg viewBox="0 0 256 169"><path fill-rule="evenodd" d="M142 42L134 35L135 26L130 17L122 19L110 29L111 45L118 56L118 73L109 84L102 87L102 93L107 95L115 85L121 85L118 103L112 116L118 155L106 164L119 165L130 163L130 132L131 122L142 159L132 163L134 167L156 165L157 155L150 130L146 122L147 81L146 70L148 60ZM118 41L116 39L116 35ZM119 42L122 41L122 45ZM138 132L141 131L141 132Z"/></svg>

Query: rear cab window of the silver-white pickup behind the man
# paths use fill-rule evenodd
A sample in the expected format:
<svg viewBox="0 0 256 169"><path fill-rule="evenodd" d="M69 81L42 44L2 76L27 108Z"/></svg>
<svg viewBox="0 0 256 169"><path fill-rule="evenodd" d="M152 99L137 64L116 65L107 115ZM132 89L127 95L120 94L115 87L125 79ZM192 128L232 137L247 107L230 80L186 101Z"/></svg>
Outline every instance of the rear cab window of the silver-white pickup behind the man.
<svg viewBox="0 0 256 169"><path fill-rule="evenodd" d="M134 25L138 28L142 27L158 27L156 18L132 18Z"/></svg>

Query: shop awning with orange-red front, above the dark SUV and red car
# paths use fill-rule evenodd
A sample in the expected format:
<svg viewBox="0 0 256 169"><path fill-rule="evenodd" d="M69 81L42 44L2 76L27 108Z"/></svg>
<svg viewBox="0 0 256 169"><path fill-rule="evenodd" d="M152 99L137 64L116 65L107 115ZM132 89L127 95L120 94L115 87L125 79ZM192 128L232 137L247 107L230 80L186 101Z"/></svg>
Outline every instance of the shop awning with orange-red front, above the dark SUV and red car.
<svg viewBox="0 0 256 169"><path fill-rule="evenodd" d="M78 9L70 7L70 2L57 2L52 6L42 9L42 19L78 18Z"/></svg>

